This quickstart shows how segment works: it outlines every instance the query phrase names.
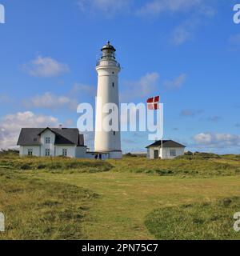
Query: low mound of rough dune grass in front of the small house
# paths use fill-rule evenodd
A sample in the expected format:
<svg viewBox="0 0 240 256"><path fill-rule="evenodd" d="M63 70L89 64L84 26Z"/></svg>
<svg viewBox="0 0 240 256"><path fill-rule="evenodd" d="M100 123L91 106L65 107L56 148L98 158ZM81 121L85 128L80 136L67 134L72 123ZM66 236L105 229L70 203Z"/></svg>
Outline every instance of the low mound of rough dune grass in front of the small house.
<svg viewBox="0 0 240 256"><path fill-rule="evenodd" d="M189 158L190 157L190 158ZM155 174L159 176L181 176L210 178L240 174L240 162L218 162L222 158L209 156L183 156L174 160L148 160L146 158L124 158L114 164L114 171L130 171L131 173Z"/></svg>

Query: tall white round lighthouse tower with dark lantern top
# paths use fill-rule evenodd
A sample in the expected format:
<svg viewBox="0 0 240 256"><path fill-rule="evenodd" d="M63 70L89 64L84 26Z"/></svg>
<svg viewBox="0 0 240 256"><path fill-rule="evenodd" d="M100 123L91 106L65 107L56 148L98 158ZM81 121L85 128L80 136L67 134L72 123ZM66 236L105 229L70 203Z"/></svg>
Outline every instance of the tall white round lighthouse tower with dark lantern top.
<svg viewBox="0 0 240 256"><path fill-rule="evenodd" d="M119 118L119 94L118 94L118 73L121 70L120 64L115 58L115 48L107 42L102 47L102 57L96 66L98 72L98 98L96 102L96 124L95 124L95 152L99 154L108 154L109 158L122 158L121 150L121 134L120 134L120 118ZM102 111L102 108L108 103L114 103L118 109L110 110L109 113ZM103 127L106 122L106 116L111 112L115 113L115 117L110 122L115 123L118 129L106 130ZM110 124L113 126L113 123Z"/></svg>

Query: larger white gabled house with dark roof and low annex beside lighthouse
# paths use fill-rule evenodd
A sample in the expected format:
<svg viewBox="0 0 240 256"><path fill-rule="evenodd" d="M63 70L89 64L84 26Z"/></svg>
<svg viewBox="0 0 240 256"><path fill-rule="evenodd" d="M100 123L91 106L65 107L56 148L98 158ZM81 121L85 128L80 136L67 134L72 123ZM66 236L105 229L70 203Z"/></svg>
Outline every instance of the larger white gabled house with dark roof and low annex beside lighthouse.
<svg viewBox="0 0 240 256"><path fill-rule="evenodd" d="M20 156L110 158L108 153L88 151L77 128L23 128L18 146Z"/></svg>

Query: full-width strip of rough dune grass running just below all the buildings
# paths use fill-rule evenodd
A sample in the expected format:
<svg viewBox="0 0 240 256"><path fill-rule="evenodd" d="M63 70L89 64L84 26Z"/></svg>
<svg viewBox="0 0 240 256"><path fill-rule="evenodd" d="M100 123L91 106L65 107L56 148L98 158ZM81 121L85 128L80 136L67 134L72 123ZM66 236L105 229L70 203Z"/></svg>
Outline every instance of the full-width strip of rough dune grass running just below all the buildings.
<svg viewBox="0 0 240 256"><path fill-rule="evenodd" d="M7 170L43 170L58 174L98 173L109 170L117 172L210 178L240 174L239 155L195 153L174 160L149 160L127 154L121 161L89 160L73 158L19 158L13 151L0 154L0 168Z"/></svg>

